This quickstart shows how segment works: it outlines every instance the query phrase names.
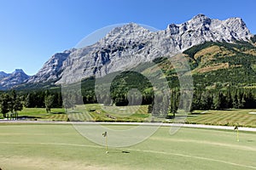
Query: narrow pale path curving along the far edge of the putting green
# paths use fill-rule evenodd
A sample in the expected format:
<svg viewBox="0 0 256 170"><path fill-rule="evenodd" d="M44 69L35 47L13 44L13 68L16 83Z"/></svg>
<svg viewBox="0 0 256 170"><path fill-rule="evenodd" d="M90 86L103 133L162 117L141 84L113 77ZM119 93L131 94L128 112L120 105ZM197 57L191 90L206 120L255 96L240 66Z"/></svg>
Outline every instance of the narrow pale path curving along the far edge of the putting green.
<svg viewBox="0 0 256 170"><path fill-rule="evenodd" d="M35 123L35 124L105 124L105 125L142 125L142 126L162 126L162 127L193 127L193 128L211 128L221 130L234 130L235 127L214 126L203 124L185 124L185 123L160 123L160 122L48 122L48 121L7 121L1 120L0 123ZM254 127L239 127L240 131L256 132Z"/></svg>

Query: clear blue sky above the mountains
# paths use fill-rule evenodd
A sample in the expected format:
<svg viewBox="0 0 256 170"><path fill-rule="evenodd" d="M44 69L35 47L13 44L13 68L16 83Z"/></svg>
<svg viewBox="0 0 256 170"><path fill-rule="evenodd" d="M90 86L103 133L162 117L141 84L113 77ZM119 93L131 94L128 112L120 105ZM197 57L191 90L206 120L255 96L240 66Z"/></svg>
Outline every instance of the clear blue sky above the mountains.
<svg viewBox="0 0 256 170"><path fill-rule="evenodd" d="M241 17L256 34L254 0L0 0L0 71L35 74L51 55L104 26L136 22L157 29L196 14Z"/></svg>

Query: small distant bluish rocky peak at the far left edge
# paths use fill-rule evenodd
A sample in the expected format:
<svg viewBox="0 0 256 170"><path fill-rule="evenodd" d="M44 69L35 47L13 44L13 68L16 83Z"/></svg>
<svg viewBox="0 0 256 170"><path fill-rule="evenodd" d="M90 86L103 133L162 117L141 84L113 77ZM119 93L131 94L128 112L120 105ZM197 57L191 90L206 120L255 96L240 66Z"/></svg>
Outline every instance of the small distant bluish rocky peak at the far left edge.
<svg viewBox="0 0 256 170"><path fill-rule="evenodd" d="M1 90L13 88L16 85L19 85L25 82L29 78L29 76L27 76L26 73L21 69L16 69L13 73L6 74L6 75L7 77L4 77L3 79L0 80Z"/></svg>

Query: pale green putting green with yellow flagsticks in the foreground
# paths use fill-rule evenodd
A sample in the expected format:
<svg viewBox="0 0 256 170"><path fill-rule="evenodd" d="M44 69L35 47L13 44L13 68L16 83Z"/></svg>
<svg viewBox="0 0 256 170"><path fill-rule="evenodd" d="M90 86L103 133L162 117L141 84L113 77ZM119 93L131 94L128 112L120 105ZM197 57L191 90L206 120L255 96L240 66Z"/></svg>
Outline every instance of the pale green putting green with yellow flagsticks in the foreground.
<svg viewBox="0 0 256 170"><path fill-rule="evenodd" d="M72 125L1 124L0 167L3 170L256 169L256 133L241 132L237 142L234 131L181 128L170 135L169 130L160 127L142 143L109 148L106 154L104 146L85 139ZM129 153L122 153L123 150Z"/></svg>

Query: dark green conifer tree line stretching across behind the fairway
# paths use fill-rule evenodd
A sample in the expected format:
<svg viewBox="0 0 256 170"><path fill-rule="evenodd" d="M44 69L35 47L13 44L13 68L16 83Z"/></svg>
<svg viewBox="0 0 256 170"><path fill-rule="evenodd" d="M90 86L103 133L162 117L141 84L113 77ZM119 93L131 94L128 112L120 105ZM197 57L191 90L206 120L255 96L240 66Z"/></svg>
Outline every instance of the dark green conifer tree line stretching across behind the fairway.
<svg viewBox="0 0 256 170"><path fill-rule="evenodd" d="M166 114L175 116L178 109L195 111L256 108L256 93L253 88L195 89L191 107L186 101L186 96L181 98L179 88L171 89L170 94L164 94L161 91L154 92L153 88L145 88L141 89L142 91L138 90L139 94L130 95L130 99L127 95L129 89L114 89L110 96L108 94L96 96L92 90L87 91L87 94L82 96L76 92L61 94L60 91L52 92L49 90L17 94L13 90L0 94L0 110L3 117L9 115L17 117L18 111L21 111L23 107L45 108L45 111L50 112L51 108L71 108L75 105L98 103L99 101L102 101L101 103L104 105L148 105L148 112L154 116L167 116ZM187 94L184 93L183 95Z"/></svg>

